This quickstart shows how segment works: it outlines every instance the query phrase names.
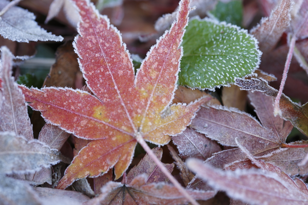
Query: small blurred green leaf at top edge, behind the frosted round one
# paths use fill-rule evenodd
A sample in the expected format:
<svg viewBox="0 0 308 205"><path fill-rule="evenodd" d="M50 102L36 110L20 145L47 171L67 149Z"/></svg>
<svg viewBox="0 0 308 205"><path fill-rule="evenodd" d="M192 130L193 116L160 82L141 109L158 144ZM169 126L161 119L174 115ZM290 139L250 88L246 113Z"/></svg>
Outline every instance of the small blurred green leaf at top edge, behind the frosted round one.
<svg viewBox="0 0 308 205"><path fill-rule="evenodd" d="M213 17L217 18L219 21L241 26L243 19L242 1L235 0L227 3L218 2L215 9L210 11L209 15L213 15Z"/></svg>

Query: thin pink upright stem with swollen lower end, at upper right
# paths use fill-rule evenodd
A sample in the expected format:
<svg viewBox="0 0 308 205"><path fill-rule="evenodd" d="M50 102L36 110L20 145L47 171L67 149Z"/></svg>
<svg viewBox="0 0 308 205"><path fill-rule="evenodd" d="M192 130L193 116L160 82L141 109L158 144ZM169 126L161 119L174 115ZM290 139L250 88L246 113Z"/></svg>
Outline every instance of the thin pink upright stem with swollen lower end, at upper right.
<svg viewBox="0 0 308 205"><path fill-rule="evenodd" d="M291 35L291 34L289 34L289 35ZM281 80L281 83L280 83L279 91L278 91L278 94L277 94L275 102L274 102L274 116L275 117L277 116L278 113L280 113L279 101L280 101L280 98L281 98L281 95L282 95L283 87L285 86L285 83L286 83L287 74L288 74L288 71L289 71L289 68L290 68L290 63L291 63L291 59L292 59L293 52L294 52L295 41L296 41L296 35L293 35L292 38L291 38L291 41L290 41L289 52L288 52L288 55L287 55L285 68L283 70L282 80Z"/></svg>

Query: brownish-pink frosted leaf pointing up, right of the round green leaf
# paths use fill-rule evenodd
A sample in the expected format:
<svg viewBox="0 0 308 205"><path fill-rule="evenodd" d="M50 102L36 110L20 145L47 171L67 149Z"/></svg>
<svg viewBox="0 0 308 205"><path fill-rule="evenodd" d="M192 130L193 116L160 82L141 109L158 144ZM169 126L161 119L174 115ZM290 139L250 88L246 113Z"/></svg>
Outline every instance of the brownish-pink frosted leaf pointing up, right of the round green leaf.
<svg viewBox="0 0 308 205"><path fill-rule="evenodd" d="M260 24L250 31L258 39L262 52L272 50L290 25L292 5L292 0L281 0L270 17L262 18Z"/></svg>

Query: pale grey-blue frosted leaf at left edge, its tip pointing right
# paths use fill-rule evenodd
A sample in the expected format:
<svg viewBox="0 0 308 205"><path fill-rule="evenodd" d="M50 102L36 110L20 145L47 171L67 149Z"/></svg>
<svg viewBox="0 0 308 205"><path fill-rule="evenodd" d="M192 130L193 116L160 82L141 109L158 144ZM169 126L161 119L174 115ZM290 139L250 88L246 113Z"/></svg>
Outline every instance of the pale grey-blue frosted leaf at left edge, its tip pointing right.
<svg viewBox="0 0 308 205"><path fill-rule="evenodd" d="M60 152L11 132L0 132L0 155L0 172L7 174L39 171L61 160Z"/></svg>

